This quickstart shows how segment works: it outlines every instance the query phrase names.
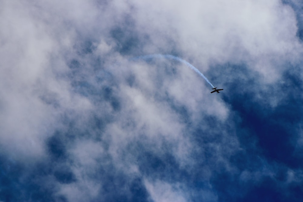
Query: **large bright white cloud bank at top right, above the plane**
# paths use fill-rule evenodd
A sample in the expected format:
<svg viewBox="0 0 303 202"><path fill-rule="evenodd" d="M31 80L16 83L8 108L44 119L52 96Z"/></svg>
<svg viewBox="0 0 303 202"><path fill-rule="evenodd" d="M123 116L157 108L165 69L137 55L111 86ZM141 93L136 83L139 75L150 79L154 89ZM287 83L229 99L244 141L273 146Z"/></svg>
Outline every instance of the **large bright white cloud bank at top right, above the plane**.
<svg viewBox="0 0 303 202"><path fill-rule="evenodd" d="M297 61L302 52L295 14L280 1L134 2L139 31L158 47L163 37L176 41L203 71L212 61L246 62L265 76L263 82L272 82L281 62Z"/></svg>

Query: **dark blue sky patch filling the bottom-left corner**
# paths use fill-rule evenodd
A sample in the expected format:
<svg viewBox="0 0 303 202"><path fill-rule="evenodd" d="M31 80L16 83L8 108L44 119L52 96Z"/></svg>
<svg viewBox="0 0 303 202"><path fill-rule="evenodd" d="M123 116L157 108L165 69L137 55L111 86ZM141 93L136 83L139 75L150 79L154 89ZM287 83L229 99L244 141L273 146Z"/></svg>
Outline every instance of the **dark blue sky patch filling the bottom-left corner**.
<svg viewBox="0 0 303 202"><path fill-rule="evenodd" d="M55 194L52 181L45 181L52 174L52 164L38 162L29 166L1 157L0 167L1 201L66 201Z"/></svg>

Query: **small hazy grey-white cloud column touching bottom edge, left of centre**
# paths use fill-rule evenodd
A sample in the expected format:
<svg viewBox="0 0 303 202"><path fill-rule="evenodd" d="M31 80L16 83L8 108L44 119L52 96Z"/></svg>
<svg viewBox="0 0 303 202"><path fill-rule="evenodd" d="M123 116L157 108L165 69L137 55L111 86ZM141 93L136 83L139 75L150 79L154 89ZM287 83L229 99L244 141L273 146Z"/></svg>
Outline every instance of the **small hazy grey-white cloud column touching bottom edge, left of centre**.
<svg viewBox="0 0 303 202"><path fill-rule="evenodd" d="M68 201L94 200L100 194L102 181L90 176L96 175L100 164L106 164L102 160L104 155L104 149L98 142L77 141L70 149L70 167L77 180L71 184L59 184L57 194L64 195Z"/></svg>

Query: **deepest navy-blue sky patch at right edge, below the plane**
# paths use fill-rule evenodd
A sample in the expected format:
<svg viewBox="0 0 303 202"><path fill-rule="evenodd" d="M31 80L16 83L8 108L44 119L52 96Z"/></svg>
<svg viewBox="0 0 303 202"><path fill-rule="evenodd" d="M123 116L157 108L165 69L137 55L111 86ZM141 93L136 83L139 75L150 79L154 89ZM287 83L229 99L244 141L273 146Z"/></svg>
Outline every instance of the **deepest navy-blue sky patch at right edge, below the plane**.
<svg viewBox="0 0 303 202"><path fill-rule="evenodd" d="M247 100L249 99L249 95ZM301 107L297 101L288 100L272 111L258 104L243 107L240 99L233 102L234 109L242 118L241 127L248 128L251 135L258 137L259 145L268 160L283 162L291 167L301 167L300 159L293 156L294 145L291 144L295 123L300 121Z"/></svg>

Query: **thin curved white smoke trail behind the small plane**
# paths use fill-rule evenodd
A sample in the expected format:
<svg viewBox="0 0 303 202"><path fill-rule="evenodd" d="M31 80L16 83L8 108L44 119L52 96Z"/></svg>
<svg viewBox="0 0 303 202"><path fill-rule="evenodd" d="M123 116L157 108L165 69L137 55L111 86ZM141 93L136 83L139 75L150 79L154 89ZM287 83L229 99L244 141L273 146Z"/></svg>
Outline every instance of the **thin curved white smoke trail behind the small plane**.
<svg viewBox="0 0 303 202"><path fill-rule="evenodd" d="M207 83L209 85L211 85L212 88L215 88L210 81L208 81L208 79L197 69L195 68L193 65L191 65L188 61L183 60L181 58L178 58L174 55L162 55L162 54L154 54L154 55L143 55L143 56L139 56L139 57L135 57L135 58L131 58L132 60L135 59L151 59L151 58L166 58L166 59L173 59L179 62L182 62L183 64L187 65L189 68L191 68L192 70L194 70L196 73L198 73L198 75L200 75L201 77L203 77L205 79L205 81L207 81Z"/></svg>

